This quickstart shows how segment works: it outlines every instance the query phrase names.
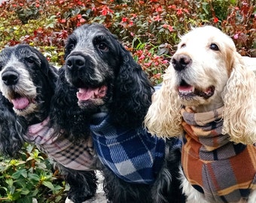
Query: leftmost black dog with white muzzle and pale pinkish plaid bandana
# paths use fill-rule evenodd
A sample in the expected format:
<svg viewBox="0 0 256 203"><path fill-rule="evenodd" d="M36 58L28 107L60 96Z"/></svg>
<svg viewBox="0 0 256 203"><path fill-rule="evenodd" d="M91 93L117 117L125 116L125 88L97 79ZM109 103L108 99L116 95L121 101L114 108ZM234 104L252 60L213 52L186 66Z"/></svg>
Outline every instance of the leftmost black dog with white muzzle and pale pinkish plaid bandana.
<svg viewBox="0 0 256 203"><path fill-rule="evenodd" d="M75 106L65 105L70 105L74 99L66 102L64 98L73 91L73 98L76 99L74 87L67 86L65 96L60 97L58 84L62 83L61 74L49 65L42 53L29 45L18 44L3 49L0 53L0 65L1 111L4 122L11 123L8 126L12 127L1 129L0 149L13 156L24 141L36 144L59 166L70 186L69 199L80 203L91 198L97 188L96 174L92 169L95 159L92 141L89 136L86 139L85 135L83 140L75 140L73 136L78 138L83 129L79 127L75 130L76 126L64 126L66 121L57 120L59 115L64 114L69 114L72 120ZM54 106L60 103L57 101L56 91L59 99L63 98L62 108ZM75 105L78 108L77 102ZM56 109L58 114L53 116L52 112ZM78 114L78 111L74 114L81 122L86 118L84 114Z"/></svg>

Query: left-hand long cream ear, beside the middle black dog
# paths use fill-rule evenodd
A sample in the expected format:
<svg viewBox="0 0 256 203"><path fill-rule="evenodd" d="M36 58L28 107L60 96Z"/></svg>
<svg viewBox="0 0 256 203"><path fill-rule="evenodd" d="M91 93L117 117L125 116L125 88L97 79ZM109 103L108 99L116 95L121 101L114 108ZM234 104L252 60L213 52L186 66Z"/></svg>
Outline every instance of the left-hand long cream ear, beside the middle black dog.
<svg viewBox="0 0 256 203"><path fill-rule="evenodd" d="M181 103L172 91L172 65L163 75L163 85L154 92L151 107L145 117L145 127L152 135L169 138L181 135Z"/></svg>

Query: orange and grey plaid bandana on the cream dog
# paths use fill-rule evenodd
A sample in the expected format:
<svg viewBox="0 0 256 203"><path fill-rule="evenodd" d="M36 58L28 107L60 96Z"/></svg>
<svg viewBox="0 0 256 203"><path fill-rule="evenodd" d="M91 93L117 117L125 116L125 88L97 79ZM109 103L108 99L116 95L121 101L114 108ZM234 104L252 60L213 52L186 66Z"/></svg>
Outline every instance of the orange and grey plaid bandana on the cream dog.
<svg viewBox="0 0 256 203"><path fill-rule="evenodd" d="M238 202L256 189L256 147L234 144L221 134L222 111L181 109L186 132L181 162L187 180L209 202Z"/></svg>

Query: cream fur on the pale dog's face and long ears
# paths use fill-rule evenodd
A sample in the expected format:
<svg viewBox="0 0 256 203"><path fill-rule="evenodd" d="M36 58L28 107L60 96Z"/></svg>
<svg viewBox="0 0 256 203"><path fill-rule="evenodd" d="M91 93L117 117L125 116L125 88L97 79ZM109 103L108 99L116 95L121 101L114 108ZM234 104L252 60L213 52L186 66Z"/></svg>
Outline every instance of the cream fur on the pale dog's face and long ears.
<svg viewBox="0 0 256 203"><path fill-rule="evenodd" d="M210 49L217 44L219 50ZM212 111L224 106L223 133L230 141L243 144L256 142L256 78L248 68L231 38L212 26L193 29L181 37L174 56L187 55L190 67L184 77L198 89L215 86L215 93L208 99L200 96L191 101L178 96L180 75L169 65L163 75L163 85L154 93L152 105L145 117L148 131L162 138L181 135L181 105L190 106L196 112ZM255 64L256 66L256 64Z"/></svg>

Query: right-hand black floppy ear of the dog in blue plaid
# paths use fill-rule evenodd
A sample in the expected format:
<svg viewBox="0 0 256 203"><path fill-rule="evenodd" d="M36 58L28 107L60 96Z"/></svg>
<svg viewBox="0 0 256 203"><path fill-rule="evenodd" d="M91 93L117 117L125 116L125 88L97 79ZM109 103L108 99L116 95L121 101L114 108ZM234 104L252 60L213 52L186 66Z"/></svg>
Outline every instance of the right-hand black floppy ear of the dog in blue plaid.
<svg viewBox="0 0 256 203"><path fill-rule="evenodd" d="M154 88L142 67L120 45L121 64L113 86L110 114L121 126L142 126Z"/></svg>

